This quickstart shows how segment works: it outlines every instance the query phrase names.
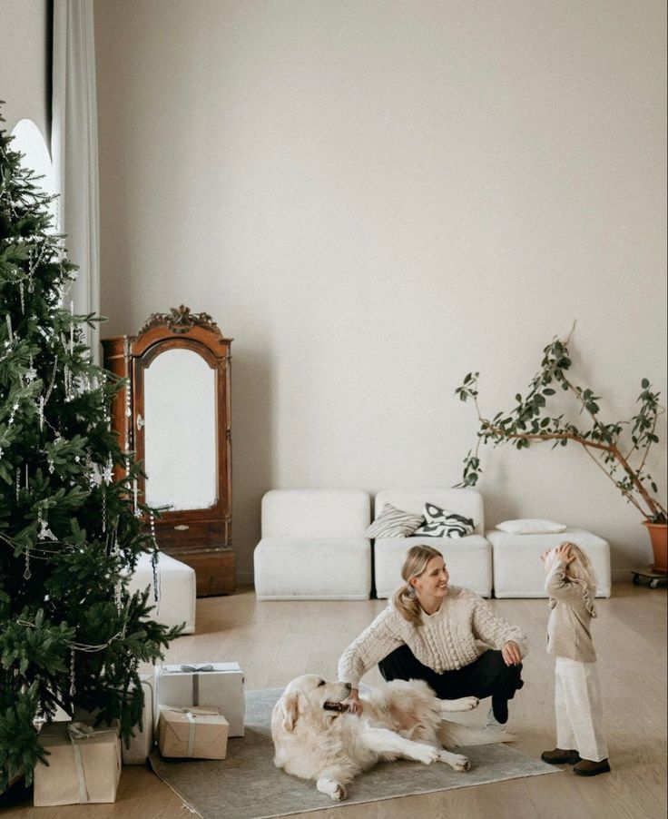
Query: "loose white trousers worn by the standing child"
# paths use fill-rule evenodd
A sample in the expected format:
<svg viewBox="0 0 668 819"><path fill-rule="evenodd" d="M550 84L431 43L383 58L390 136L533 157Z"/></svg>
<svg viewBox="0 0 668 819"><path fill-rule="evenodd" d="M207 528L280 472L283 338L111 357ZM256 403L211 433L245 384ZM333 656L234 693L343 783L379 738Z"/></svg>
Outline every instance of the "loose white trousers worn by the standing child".
<svg viewBox="0 0 668 819"><path fill-rule="evenodd" d="M592 762L607 758L595 663L556 658L555 712L557 748L575 749L582 759Z"/></svg>

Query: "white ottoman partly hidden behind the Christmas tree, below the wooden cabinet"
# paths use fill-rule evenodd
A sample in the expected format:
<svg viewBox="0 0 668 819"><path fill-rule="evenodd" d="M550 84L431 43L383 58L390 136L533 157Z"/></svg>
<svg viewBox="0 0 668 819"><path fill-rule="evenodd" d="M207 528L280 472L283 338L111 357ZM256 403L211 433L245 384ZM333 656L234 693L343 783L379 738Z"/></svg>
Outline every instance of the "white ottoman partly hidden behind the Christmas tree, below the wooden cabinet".
<svg viewBox="0 0 668 819"><path fill-rule="evenodd" d="M160 600L153 598L153 568L151 555L140 556L128 589L131 594L150 587L149 604L155 606L149 617L164 626L180 626L185 623L182 634L195 632L195 570L181 560L175 560L164 552L158 555L158 585Z"/></svg>

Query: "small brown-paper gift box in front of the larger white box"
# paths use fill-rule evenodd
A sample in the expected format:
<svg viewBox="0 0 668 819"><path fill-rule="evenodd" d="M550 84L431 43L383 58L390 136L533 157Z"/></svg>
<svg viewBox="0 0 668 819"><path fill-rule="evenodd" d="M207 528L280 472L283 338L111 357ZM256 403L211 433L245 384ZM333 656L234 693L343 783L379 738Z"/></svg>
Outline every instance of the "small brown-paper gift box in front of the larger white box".
<svg viewBox="0 0 668 819"><path fill-rule="evenodd" d="M229 728L220 708L160 706L160 753L162 756L224 759Z"/></svg>

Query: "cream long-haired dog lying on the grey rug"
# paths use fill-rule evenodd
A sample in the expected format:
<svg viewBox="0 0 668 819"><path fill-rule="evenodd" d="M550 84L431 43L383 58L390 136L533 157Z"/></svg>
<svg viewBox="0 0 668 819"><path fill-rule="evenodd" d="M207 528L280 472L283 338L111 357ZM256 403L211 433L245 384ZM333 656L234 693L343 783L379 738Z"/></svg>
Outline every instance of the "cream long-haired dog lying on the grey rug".
<svg viewBox="0 0 668 819"><path fill-rule="evenodd" d="M316 780L323 794L339 801L356 775L380 760L415 759L425 765L445 762L456 771L469 768L466 756L444 750L445 743L471 745L512 739L490 736L481 728L443 722L453 711L470 711L475 696L438 699L422 680L394 680L360 696L361 715L343 705L347 683L329 683L307 674L292 680L271 715L274 765L287 774ZM448 730L452 729L452 730Z"/></svg>

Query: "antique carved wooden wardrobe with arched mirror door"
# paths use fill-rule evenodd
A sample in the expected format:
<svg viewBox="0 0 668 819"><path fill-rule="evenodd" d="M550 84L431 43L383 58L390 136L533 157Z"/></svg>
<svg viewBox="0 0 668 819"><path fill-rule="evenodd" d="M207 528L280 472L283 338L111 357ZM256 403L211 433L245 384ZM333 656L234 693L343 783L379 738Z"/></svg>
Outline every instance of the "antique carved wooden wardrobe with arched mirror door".
<svg viewBox="0 0 668 819"><path fill-rule="evenodd" d="M210 316L185 307L103 340L106 369L129 380L113 423L143 461L138 495L162 509L158 544L195 569L200 596L235 589L230 347Z"/></svg>

